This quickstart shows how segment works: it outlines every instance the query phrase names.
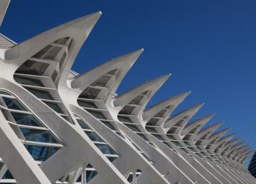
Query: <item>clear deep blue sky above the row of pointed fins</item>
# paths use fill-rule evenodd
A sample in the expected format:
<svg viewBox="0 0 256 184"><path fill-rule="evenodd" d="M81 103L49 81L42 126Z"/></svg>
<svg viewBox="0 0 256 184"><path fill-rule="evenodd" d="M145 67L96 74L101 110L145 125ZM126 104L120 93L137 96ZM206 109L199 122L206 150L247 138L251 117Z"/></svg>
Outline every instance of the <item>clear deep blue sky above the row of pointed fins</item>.
<svg viewBox="0 0 256 184"><path fill-rule="evenodd" d="M144 47L118 93L171 73L150 104L192 91L178 110L204 102L196 117L217 113L210 123L224 120L231 133L256 123L255 8L256 1L13 0L1 33L22 42L102 11L75 71Z"/></svg>

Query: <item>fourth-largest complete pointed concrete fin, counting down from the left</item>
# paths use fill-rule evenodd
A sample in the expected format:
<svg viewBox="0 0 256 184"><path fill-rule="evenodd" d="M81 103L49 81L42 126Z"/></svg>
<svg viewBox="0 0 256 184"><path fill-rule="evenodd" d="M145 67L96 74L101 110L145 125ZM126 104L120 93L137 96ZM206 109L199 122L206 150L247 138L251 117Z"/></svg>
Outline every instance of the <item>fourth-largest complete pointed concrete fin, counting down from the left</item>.
<svg viewBox="0 0 256 184"><path fill-rule="evenodd" d="M169 105L172 105L172 108L170 109L169 114L166 115L166 116L169 116L171 112L176 108L176 106L178 106L178 104L180 104L190 93L191 91L188 91L186 93L181 93L178 96L173 96L167 100L156 103L155 105L151 106L149 109L145 110L145 112L142 115L143 119L146 121L149 121L152 117L154 117L154 115L159 113L161 110L163 110Z"/></svg>

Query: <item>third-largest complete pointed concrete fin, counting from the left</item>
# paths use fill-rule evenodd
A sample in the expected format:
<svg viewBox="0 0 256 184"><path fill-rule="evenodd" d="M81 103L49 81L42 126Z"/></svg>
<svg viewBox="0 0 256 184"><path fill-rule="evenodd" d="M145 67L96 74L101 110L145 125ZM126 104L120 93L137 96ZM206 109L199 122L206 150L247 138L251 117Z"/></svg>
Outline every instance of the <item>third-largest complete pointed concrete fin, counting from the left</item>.
<svg viewBox="0 0 256 184"><path fill-rule="evenodd" d="M124 107L140 94L144 93L145 91L150 91L149 96L147 97L147 99L144 101L144 104L142 105L142 108L144 108L146 103L151 99L154 93L164 84L164 82L169 78L169 76L171 76L171 74L166 74L159 78L146 81L144 84L141 84L119 96L116 96L113 103L114 107L120 107L120 106Z"/></svg>

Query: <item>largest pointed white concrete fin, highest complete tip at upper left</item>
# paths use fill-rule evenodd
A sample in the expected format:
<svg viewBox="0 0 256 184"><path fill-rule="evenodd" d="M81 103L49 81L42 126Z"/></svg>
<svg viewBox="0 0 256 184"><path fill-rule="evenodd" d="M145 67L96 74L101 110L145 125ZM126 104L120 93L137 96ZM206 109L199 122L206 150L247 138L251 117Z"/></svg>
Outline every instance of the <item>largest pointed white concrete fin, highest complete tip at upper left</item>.
<svg viewBox="0 0 256 184"><path fill-rule="evenodd" d="M94 27L97 20L100 18L101 14L102 13L99 11L97 13L92 13L90 15L77 18L68 23L58 25L55 28L47 30L46 32L36 35L35 37L28 39L25 42L21 42L21 44L5 50L4 54L1 55L1 58L6 60L14 59L16 57L23 56L24 54L27 54L28 57L31 57L33 54L36 54L36 52L42 50L43 47L46 47L46 45L49 45L50 43L55 42L55 40L60 38L78 37L79 39L82 39L81 34L87 38L87 35L90 34L90 31Z"/></svg>

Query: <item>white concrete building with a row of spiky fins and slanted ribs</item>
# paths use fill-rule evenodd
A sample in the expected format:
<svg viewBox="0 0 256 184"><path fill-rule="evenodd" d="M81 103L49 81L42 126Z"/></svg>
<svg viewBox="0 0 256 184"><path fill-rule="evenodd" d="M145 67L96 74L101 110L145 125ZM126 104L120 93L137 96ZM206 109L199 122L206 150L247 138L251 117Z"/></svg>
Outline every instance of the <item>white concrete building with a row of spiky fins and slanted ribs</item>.
<svg viewBox="0 0 256 184"><path fill-rule="evenodd" d="M256 183L245 143L205 127L214 115L190 122L203 104L173 115L190 92L146 109L169 74L116 94L142 49L70 70L100 16L18 44L0 35L0 183Z"/></svg>

